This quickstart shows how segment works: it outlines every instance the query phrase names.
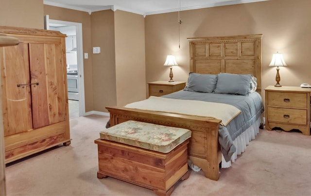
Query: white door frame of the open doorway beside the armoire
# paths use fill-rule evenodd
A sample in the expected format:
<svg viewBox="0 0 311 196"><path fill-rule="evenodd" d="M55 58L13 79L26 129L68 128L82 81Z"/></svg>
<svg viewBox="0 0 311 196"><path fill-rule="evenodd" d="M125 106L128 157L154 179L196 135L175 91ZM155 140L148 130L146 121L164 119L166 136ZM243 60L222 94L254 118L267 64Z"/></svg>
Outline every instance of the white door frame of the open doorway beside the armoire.
<svg viewBox="0 0 311 196"><path fill-rule="evenodd" d="M85 106L85 91L84 91L84 65L83 65L83 36L82 36L82 23L79 22L69 22L63 20L53 20L48 19L49 23L53 24L63 24L76 27L76 37L77 37L77 68L78 68L78 89L79 89L79 116L86 115ZM49 26L49 25L47 25Z"/></svg>

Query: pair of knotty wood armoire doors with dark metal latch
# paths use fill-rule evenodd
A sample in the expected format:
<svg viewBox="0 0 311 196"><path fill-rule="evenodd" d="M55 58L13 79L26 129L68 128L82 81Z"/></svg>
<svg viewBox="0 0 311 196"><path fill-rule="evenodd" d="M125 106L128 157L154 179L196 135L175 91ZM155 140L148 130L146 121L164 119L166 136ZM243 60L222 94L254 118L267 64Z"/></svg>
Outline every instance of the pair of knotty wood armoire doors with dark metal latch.
<svg viewBox="0 0 311 196"><path fill-rule="evenodd" d="M4 137L66 120L60 47L20 43L0 49Z"/></svg>

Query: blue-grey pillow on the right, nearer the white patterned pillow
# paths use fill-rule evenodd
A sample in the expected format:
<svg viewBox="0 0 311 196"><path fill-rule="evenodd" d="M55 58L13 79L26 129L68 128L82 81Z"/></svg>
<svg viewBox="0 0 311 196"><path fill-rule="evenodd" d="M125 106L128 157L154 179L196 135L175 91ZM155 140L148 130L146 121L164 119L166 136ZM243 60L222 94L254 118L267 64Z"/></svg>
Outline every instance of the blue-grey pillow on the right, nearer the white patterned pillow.
<svg viewBox="0 0 311 196"><path fill-rule="evenodd" d="M215 93L248 95L251 85L251 74L219 73Z"/></svg>

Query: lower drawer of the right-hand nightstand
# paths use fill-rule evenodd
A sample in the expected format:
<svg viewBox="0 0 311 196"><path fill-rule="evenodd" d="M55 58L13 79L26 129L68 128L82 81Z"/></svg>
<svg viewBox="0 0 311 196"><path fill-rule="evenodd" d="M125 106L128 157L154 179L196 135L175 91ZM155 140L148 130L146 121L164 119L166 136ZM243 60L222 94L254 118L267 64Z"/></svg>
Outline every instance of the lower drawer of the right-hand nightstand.
<svg viewBox="0 0 311 196"><path fill-rule="evenodd" d="M271 122L307 125L307 110L268 107L268 119Z"/></svg>

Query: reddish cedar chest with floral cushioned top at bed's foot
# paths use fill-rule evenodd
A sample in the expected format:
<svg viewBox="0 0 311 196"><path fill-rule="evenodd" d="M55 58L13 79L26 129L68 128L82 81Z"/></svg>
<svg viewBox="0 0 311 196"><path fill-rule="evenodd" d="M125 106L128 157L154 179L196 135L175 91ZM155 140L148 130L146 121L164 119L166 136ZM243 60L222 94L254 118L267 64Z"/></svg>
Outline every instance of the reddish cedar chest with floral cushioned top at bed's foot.
<svg viewBox="0 0 311 196"><path fill-rule="evenodd" d="M157 131L155 131L157 130ZM189 177L189 129L127 121L100 132L98 178L118 178L171 195Z"/></svg>

